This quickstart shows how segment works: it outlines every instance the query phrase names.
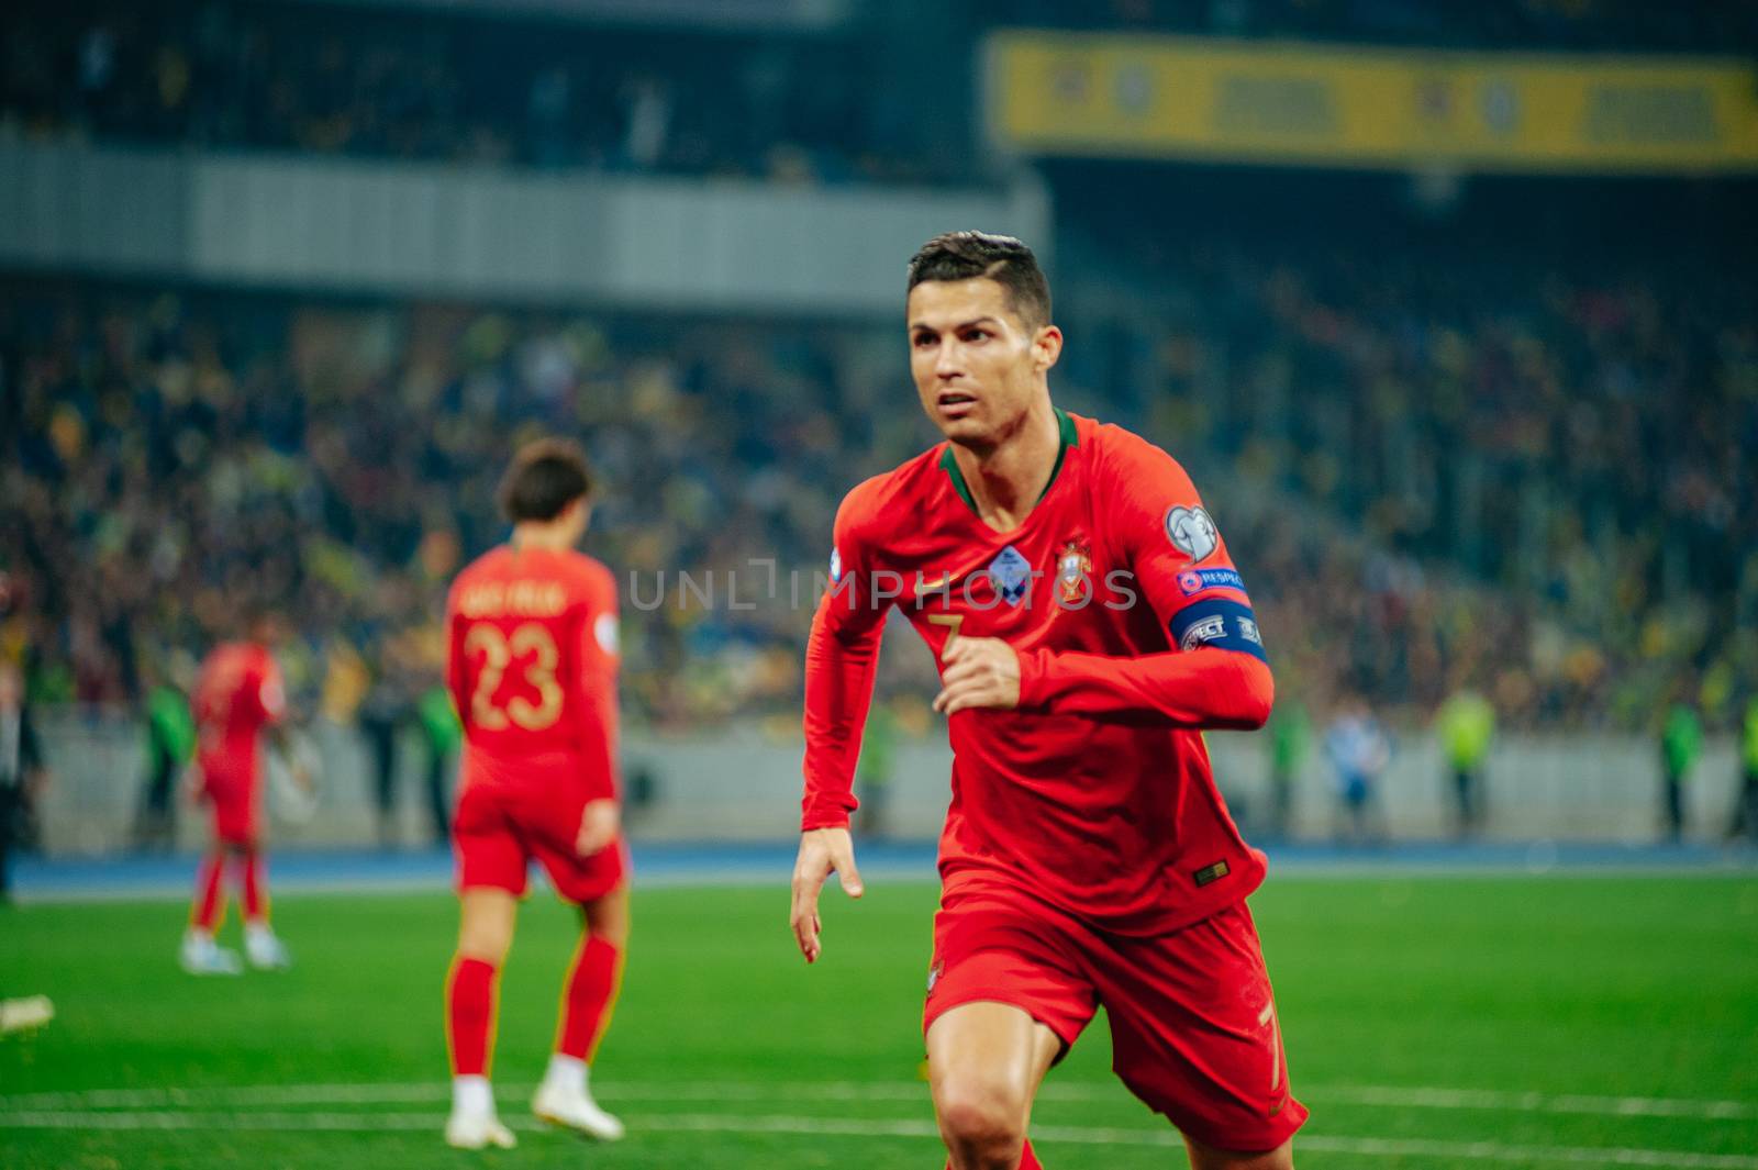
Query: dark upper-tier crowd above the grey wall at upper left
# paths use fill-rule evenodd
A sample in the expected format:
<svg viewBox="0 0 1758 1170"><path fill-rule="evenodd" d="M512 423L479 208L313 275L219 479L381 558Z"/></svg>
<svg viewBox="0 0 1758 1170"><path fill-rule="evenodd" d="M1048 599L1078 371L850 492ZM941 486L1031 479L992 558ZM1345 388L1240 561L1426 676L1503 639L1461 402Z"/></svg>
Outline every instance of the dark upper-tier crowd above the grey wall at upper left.
<svg viewBox="0 0 1758 1170"><path fill-rule="evenodd" d="M923 121L909 56L851 35L237 0L26 4L0 33L0 132L32 137L786 183L970 172L962 44L956 100Z"/></svg>

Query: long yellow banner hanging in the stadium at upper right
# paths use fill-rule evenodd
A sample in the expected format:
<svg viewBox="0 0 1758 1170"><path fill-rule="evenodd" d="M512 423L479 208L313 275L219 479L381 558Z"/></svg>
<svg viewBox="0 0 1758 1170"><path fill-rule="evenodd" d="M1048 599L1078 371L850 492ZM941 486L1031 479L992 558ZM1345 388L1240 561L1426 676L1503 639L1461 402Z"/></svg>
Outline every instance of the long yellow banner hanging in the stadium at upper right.
<svg viewBox="0 0 1758 1170"><path fill-rule="evenodd" d="M1035 155L1470 170L1754 170L1732 60L1002 32L993 141Z"/></svg>

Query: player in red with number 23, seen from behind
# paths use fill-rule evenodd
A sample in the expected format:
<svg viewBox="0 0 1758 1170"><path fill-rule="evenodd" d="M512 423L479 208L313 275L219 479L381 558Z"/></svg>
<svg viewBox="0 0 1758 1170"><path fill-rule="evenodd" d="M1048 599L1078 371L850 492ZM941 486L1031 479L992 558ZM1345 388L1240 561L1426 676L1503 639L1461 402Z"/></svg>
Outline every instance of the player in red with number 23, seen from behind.
<svg viewBox="0 0 1758 1170"><path fill-rule="evenodd" d="M464 720L454 850L461 924L447 980L447 1142L512 1147L489 1089L496 979L533 859L580 906L556 1052L538 1117L601 1140L622 1123L587 1087L629 931L617 782L617 585L575 552L591 474L570 443L522 448L501 481L512 541L478 557L447 599L447 685Z"/></svg>

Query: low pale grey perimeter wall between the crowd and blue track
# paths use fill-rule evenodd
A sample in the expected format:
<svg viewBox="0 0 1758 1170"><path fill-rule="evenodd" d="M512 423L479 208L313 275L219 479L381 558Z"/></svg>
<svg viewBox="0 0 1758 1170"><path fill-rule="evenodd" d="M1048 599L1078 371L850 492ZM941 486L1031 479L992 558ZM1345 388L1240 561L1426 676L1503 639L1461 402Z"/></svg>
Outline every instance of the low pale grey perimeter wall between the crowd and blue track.
<svg viewBox="0 0 1758 1170"><path fill-rule="evenodd" d="M42 801L44 843L54 854L107 854L128 847L144 787L144 733L114 711L39 713L53 785ZM367 754L359 733L332 724L308 729L323 761L316 817L276 826L283 845L369 845L378 841ZM1229 801L1248 836L1269 806L1268 743L1262 736L1213 734L1210 750ZM756 726L712 736L624 738L629 775L654 780L649 806L631 810L645 840L782 840L796 826L800 743L775 741ZM425 755L410 733L399 741L394 836L429 834ZM895 754L886 827L900 838L932 838L946 813L951 754L944 741L907 741ZM1737 791L1732 741L1711 740L1686 787L1688 834L1718 840ZM1645 841L1658 834L1660 752L1649 740L1612 734L1508 736L1487 769L1486 834L1500 840ZM1449 833L1449 778L1427 736L1412 736L1382 785L1394 838ZM1333 784L1322 761L1308 761L1294 791L1294 834L1324 840L1333 827ZM195 845L202 817L179 808L179 841Z"/></svg>

